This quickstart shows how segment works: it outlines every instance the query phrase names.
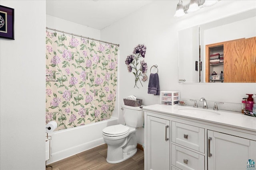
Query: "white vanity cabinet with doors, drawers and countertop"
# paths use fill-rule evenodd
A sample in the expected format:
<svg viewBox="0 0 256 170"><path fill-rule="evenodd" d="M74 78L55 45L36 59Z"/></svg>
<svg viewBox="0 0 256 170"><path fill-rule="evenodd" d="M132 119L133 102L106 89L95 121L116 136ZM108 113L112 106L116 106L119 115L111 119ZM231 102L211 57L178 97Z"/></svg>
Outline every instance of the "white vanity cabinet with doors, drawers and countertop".
<svg viewBox="0 0 256 170"><path fill-rule="evenodd" d="M247 170L256 162L255 117L232 113L232 124L229 113L196 117L181 107L143 107L145 170Z"/></svg>

